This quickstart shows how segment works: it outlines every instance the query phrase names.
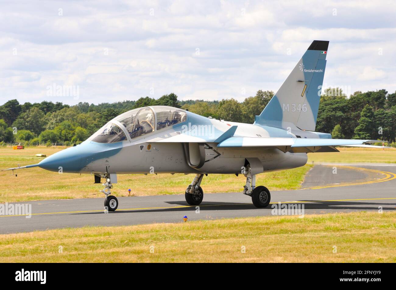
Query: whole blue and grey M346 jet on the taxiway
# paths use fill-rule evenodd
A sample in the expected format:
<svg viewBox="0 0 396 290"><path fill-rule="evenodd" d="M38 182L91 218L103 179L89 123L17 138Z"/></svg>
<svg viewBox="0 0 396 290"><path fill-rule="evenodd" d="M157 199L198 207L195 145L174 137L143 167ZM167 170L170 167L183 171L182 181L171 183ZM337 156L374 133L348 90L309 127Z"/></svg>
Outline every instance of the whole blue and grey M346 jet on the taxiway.
<svg viewBox="0 0 396 290"><path fill-rule="evenodd" d="M121 114L86 141L57 152L38 164L6 170L41 167L50 171L86 173L101 190L105 208L114 211L111 195L117 174L195 174L187 186L189 205L204 197L204 175L243 174L243 193L256 207L267 207L270 191L256 186L256 174L303 166L307 153L338 152L334 146L383 148L377 140L332 139L314 132L326 66L328 41L314 40L285 82L253 124L206 118L168 106L148 106ZM141 185L137 185L141 186Z"/></svg>

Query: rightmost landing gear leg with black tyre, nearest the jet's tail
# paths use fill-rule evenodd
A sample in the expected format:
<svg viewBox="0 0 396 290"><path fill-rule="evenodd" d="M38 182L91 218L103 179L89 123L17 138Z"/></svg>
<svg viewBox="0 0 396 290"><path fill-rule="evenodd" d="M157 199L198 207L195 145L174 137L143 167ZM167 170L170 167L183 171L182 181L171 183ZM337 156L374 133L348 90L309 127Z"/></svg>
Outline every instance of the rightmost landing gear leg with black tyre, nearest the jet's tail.
<svg viewBox="0 0 396 290"><path fill-rule="evenodd" d="M251 174L250 166L241 172L246 177L244 194L251 196L251 201L255 207L268 207L271 201L271 194L265 186L256 187L256 175Z"/></svg>

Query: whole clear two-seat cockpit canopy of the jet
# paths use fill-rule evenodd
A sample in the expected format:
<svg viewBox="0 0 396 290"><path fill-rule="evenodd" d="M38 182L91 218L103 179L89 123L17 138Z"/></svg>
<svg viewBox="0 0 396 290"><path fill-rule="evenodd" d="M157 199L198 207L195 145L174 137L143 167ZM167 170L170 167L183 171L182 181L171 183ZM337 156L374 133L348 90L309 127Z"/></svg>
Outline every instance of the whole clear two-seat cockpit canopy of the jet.
<svg viewBox="0 0 396 290"><path fill-rule="evenodd" d="M115 143L134 139L187 120L187 112L168 106L137 108L116 118L88 138L99 143ZM129 139L126 137L129 135Z"/></svg>

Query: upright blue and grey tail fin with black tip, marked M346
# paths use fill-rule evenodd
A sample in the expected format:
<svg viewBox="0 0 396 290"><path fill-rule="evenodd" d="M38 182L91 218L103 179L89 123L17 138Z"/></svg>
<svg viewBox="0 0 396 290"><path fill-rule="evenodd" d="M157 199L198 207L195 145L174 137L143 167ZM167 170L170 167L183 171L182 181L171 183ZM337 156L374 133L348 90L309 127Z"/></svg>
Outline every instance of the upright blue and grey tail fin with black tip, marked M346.
<svg viewBox="0 0 396 290"><path fill-rule="evenodd" d="M255 123L315 131L328 41L314 40Z"/></svg>

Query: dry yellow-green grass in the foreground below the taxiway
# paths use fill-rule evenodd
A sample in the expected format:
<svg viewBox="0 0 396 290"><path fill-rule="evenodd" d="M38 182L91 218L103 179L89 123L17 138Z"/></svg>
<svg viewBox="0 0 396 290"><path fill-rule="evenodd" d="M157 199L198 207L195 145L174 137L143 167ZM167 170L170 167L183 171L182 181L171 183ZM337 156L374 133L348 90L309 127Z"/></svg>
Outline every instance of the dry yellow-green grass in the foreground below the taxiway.
<svg viewBox="0 0 396 290"><path fill-rule="evenodd" d="M394 263L395 221L353 212L54 229L0 235L0 262Z"/></svg>

